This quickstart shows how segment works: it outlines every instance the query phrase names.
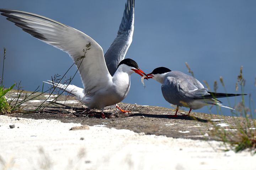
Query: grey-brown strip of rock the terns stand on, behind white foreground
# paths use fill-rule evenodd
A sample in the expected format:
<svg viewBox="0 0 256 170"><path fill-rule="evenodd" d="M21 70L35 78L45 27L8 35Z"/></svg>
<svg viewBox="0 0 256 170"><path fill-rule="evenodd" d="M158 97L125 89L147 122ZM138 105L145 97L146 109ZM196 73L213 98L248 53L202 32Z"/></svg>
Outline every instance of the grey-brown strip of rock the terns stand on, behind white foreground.
<svg viewBox="0 0 256 170"><path fill-rule="evenodd" d="M11 116L31 119L55 119L64 123L80 123L81 125L128 129L145 134L201 140L219 140L216 135L217 130L214 128L215 125L219 125L218 130L238 133L236 131L238 122L243 124L245 121L244 118L197 112L191 112L190 117L183 116L182 114L187 114L187 111L179 111L178 117L173 118L169 115L174 115L175 109L128 103L119 103L119 106L129 110L129 113L120 113L114 106L105 107L104 114L107 119L102 119L100 111L86 110L80 102L72 97L62 95L58 97L57 101L53 101L53 99L53 95L40 95L25 103L26 106L23 110L28 111L27 113L15 113ZM38 106L41 106L38 111L31 112Z"/></svg>

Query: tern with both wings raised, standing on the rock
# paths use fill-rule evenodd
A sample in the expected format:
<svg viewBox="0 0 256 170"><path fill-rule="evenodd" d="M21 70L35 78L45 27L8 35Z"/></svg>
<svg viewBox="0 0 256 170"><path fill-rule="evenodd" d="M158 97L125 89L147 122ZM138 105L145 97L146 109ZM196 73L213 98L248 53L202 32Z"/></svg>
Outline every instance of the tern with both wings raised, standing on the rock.
<svg viewBox="0 0 256 170"><path fill-rule="evenodd" d="M86 103L89 109L101 109L121 102L130 89L130 75L146 75L132 59L124 59L132 42L134 0L127 0L116 39L105 54L90 36L53 19L34 13L0 9L1 15L23 31L66 53L73 59L84 88L49 81ZM124 60L123 60L124 59Z"/></svg>

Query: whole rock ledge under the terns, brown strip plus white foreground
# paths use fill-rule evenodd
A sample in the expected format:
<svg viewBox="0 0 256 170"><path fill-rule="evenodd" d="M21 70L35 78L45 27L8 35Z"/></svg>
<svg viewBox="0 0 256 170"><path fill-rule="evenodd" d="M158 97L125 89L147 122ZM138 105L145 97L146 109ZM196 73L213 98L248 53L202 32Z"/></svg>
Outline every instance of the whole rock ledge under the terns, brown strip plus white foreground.
<svg viewBox="0 0 256 170"><path fill-rule="evenodd" d="M46 97L26 102L24 110ZM130 113L111 106L104 111L107 119L100 119L101 112L81 113L85 109L72 99L57 102L66 106L0 115L0 169L256 169L255 156L224 152L215 141L217 129L237 133L243 118L196 112L184 117L184 111L170 118L174 109L122 103Z"/></svg>

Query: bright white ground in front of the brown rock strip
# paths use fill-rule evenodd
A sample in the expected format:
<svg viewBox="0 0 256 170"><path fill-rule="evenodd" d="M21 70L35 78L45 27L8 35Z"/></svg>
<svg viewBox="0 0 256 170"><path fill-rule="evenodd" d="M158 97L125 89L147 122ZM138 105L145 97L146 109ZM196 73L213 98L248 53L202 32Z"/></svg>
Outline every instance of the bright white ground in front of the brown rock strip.
<svg viewBox="0 0 256 170"><path fill-rule="evenodd" d="M10 128L15 125L15 128ZM221 142L0 115L0 169L255 170L256 156Z"/></svg>

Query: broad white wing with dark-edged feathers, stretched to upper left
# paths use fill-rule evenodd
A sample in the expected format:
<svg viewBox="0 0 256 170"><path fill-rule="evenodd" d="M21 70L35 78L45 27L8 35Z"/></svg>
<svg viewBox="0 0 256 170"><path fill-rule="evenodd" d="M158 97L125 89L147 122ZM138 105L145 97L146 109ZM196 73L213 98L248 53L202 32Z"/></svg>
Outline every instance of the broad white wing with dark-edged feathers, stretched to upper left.
<svg viewBox="0 0 256 170"><path fill-rule="evenodd" d="M78 67L85 92L94 92L112 79L101 46L90 36L33 13L5 9L0 12L23 31L68 53Z"/></svg>

